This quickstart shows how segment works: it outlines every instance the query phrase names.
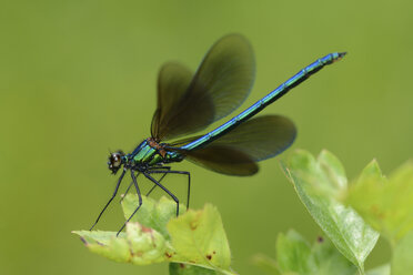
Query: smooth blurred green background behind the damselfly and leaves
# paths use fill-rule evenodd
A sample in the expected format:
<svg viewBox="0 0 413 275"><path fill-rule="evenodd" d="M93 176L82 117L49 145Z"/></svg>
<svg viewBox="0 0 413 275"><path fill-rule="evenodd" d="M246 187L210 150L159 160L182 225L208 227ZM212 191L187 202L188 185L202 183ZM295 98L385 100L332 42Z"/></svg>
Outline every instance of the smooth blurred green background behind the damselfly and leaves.
<svg viewBox="0 0 413 275"><path fill-rule="evenodd" d="M291 118L293 149L329 149L351 179L373 157L389 173L413 150L412 10L406 0L2 2L0 274L167 274L165 264L93 255L70 232L89 228L112 193L108 149L149 135L161 64L195 70L229 32L243 33L256 57L243 108L316 58L347 51L263 113ZM273 255L279 232L321 233L279 169L289 151L253 177L175 165L192 173L192 207L219 207L240 274L259 273L251 257ZM98 227L121 222L115 202ZM367 267L387 249L380 242Z"/></svg>

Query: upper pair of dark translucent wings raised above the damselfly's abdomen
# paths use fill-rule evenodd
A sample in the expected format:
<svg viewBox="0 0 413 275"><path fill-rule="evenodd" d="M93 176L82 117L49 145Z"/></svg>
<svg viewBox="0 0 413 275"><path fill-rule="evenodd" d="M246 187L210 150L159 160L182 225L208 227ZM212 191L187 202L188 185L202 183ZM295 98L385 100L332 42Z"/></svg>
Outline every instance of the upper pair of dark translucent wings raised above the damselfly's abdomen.
<svg viewBox="0 0 413 275"><path fill-rule="evenodd" d="M230 114L246 99L254 70L252 48L239 34L213 44L192 79L184 67L165 64L158 80L152 138L171 140L192 134Z"/></svg>

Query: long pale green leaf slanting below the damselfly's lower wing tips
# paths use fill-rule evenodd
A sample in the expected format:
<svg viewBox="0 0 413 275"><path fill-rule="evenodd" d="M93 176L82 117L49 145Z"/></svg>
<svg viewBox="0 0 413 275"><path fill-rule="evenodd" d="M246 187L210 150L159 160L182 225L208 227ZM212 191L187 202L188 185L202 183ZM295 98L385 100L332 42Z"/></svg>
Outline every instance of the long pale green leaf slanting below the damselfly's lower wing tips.
<svg viewBox="0 0 413 275"><path fill-rule="evenodd" d="M314 221L338 249L363 272L364 261L379 233L352 207L336 200L347 190L340 161L328 151L318 160L306 151L296 151L283 169Z"/></svg>

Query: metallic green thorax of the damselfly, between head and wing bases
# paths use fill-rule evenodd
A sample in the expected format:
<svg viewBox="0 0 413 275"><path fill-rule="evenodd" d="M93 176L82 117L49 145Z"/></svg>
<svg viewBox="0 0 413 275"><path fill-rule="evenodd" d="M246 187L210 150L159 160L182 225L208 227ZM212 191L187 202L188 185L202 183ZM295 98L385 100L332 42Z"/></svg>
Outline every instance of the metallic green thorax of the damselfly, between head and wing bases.
<svg viewBox="0 0 413 275"><path fill-rule="evenodd" d="M154 166L164 163L180 162L183 156L177 152L165 151L162 144L147 139L131 153L124 156L132 166Z"/></svg>

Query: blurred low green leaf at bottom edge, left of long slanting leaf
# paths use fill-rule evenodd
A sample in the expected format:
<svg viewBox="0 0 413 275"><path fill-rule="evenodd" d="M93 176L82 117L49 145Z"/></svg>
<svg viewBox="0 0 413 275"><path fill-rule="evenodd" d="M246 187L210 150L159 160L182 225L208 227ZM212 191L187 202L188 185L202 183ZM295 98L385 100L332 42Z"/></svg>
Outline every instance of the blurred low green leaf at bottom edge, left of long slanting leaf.
<svg viewBox="0 0 413 275"><path fill-rule="evenodd" d="M262 257L263 258L263 257ZM282 275L356 275L357 267L328 240L319 238L312 246L296 232L280 234L276 263L264 258L272 274ZM261 265L262 266L262 265ZM266 271L271 271L266 268Z"/></svg>

